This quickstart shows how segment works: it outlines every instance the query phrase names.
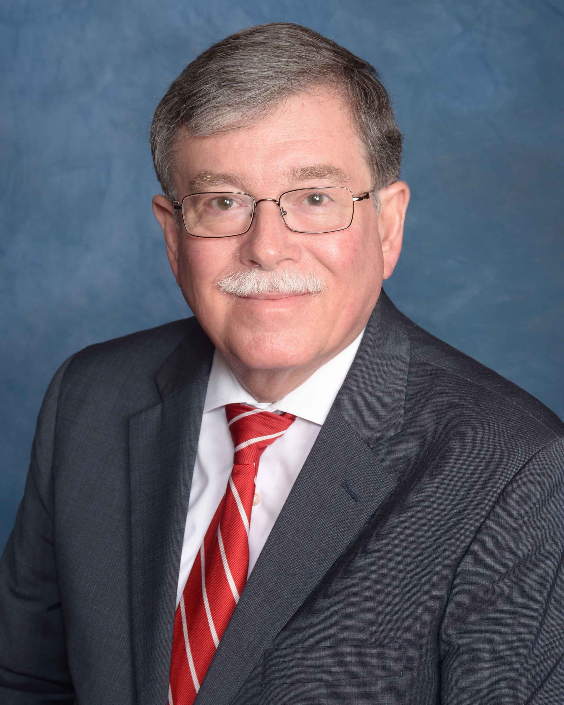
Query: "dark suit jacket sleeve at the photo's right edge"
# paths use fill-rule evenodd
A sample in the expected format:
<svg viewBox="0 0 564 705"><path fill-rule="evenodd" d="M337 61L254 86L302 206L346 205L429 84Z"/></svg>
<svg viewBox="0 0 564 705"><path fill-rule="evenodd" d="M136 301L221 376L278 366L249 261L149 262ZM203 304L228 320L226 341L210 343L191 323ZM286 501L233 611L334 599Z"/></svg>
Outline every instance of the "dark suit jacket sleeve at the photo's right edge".
<svg viewBox="0 0 564 705"><path fill-rule="evenodd" d="M564 703L563 480L557 439L474 535L441 622L441 704Z"/></svg>

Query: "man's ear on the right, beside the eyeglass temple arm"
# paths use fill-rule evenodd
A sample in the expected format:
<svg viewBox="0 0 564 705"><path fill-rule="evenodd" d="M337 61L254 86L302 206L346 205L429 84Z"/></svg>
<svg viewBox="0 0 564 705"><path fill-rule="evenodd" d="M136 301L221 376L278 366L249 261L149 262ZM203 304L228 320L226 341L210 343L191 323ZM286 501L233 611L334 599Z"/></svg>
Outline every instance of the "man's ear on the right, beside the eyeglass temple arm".
<svg viewBox="0 0 564 705"><path fill-rule="evenodd" d="M384 279L387 279L400 257L410 188L405 181L395 181L379 190L378 195L381 206L376 223L384 255Z"/></svg>

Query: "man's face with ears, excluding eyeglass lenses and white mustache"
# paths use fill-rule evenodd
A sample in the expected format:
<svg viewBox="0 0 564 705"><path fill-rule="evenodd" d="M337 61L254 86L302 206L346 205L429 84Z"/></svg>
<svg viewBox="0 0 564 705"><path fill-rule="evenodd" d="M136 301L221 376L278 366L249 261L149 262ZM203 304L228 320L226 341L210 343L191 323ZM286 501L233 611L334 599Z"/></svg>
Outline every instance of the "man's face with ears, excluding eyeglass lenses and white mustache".
<svg viewBox="0 0 564 705"><path fill-rule="evenodd" d="M244 130L178 139L177 149L178 200L200 191L278 200L309 186L345 186L355 196L372 188L364 147L341 100L329 92L297 95ZM349 228L317 235L290 231L271 201L257 206L247 233L231 238L197 238L183 226L176 231L164 197L155 197L164 205L154 209L176 280L214 345L246 369L290 369L329 360L366 324L400 252L407 186L392 185L381 197L379 217L372 200L360 201ZM320 276L324 288L271 298L238 297L216 286L246 268L298 269Z"/></svg>

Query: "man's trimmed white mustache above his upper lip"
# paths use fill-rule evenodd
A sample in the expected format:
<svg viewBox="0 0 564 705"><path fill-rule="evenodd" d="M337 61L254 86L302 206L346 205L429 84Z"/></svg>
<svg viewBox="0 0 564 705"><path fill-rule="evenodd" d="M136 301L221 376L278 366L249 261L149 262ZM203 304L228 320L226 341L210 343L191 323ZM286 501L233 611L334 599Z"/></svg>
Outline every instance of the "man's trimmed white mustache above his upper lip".
<svg viewBox="0 0 564 705"><path fill-rule="evenodd" d="M299 269L273 269L267 271L259 266L238 269L216 281L224 294L251 296L253 294L317 294L325 286L319 274L302 272Z"/></svg>

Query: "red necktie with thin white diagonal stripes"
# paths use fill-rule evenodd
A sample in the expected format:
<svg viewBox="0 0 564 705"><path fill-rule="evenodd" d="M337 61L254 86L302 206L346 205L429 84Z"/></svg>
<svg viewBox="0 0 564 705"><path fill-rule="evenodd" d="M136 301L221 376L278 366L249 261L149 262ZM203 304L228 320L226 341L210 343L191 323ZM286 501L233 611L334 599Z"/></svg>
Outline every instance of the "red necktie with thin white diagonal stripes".
<svg viewBox="0 0 564 705"><path fill-rule="evenodd" d="M247 404L225 407L233 470L174 616L168 705L191 705L219 639L239 601L249 570L249 525L262 452L295 421Z"/></svg>

